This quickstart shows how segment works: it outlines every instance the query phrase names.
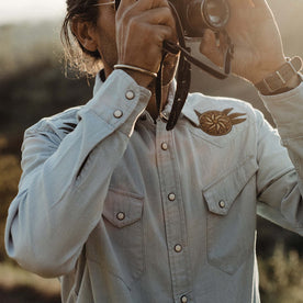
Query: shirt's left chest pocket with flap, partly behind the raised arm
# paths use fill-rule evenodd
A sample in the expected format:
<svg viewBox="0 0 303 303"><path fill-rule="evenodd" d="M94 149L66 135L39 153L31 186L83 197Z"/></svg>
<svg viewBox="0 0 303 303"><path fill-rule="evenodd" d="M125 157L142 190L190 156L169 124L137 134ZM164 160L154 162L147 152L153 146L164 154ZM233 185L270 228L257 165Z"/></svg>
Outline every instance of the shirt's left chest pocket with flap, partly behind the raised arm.
<svg viewBox="0 0 303 303"><path fill-rule="evenodd" d="M110 272L126 285L144 270L143 200L135 193L109 190L102 218L87 245L88 258L100 265L98 274Z"/></svg>

